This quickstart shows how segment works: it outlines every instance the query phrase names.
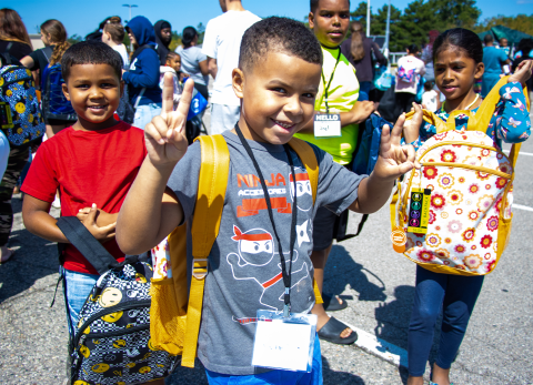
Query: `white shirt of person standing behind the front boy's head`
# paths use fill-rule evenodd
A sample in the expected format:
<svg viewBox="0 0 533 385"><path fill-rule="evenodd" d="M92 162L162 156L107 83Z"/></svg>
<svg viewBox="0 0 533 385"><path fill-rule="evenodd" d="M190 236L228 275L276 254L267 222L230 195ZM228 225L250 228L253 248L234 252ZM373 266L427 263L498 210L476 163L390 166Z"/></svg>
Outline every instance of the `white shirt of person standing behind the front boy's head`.
<svg viewBox="0 0 533 385"><path fill-rule="evenodd" d="M241 104L231 85L231 72L239 65L239 51L244 31L260 20L261 18L250 11L228 11L208 22L202 52L217 59L218 67L211 94L212 103Z"/></svg>

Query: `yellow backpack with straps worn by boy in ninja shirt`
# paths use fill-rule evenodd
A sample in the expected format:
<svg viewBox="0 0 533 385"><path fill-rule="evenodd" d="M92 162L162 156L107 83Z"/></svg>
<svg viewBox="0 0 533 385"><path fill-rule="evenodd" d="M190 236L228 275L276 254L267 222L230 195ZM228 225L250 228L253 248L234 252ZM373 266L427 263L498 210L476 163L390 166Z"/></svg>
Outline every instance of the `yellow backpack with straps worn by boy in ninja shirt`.
<svg viewBox="0 0 533 385"><path fill-rule="evenodd" d="M162 253L168 259L162 261L164 263L157 261L154 264L154 276L159 277L152 278L150 288L151 346L171 355L181 355L181 365L187 367L194 367L208 257L219 234L230 170L230 152L222 135L198 136L195 140L201 145L201 168L190 239L192 272L187 265L188 236L187 224L183 224L169 235L163 246L167 250ZM319 182L314 151L296 138L291 139L289 145L305 165L314 202ZM314 295L316 303L322 303L316 283Z"/></svg>

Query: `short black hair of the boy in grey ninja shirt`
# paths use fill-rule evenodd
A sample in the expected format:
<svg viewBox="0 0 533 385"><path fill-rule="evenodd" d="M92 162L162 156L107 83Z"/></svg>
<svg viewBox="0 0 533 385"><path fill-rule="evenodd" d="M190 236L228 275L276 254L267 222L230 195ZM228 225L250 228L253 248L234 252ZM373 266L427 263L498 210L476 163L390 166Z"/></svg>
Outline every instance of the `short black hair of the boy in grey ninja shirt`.
<svg viewBox="0 0 533 385"><path fill-rule="evenodd" d="M266 18L252 24L242 37L239 68L249 70L269 52L283 52L322 65L320 43L302 22L288 18Z"/></svg>

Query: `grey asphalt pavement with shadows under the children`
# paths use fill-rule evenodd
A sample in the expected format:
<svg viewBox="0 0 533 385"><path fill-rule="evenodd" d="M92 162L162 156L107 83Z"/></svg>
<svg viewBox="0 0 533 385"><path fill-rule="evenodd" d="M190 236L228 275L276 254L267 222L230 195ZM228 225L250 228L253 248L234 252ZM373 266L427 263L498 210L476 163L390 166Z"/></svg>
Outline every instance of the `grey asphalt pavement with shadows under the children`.
<svg viewBox="0 0 533 385"><path fill-rule="evenodd" d="M533 142L525 142L522 152L533 154ZM526 207L533 207L532 165L533 156L519 156L514 203ZM20 206L17 195L9 241L17 252L0 265L0 384L61 384L68 337L61 290L50 307L58 280L57 249L24 230ZM451 378L456 385L533 384L533 211L513 212L509 246L496 270L485 278L452 366ZM359 220L360 215L351 214L351 232ZM324 291L349 303L346 310L335 312L336 318L404 352L415 265L394 253L389 232L385 206L370 216L359 237L335 244L325 270ZM435 344L438 334L436 328ZM322 342L321 348L324 384L405 384L405 368L383 355L356 345ZM167 385L178 384L207 384L201 364L197 362L194 369L178 368Z"/></svg>

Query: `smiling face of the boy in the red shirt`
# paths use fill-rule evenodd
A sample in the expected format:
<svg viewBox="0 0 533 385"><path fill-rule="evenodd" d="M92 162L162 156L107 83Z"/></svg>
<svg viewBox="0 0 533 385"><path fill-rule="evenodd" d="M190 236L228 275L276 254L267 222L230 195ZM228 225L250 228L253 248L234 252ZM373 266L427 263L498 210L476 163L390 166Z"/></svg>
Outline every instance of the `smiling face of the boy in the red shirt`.
<svg viewBox="0 0 533 385"><path fill-rule="evenodd" d="M78 114L77 130L97 131L117 123L123 83L109 64L76 64L63 84L64 95Z"/></svg>

